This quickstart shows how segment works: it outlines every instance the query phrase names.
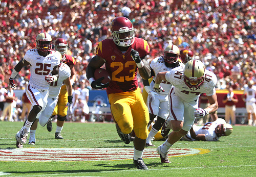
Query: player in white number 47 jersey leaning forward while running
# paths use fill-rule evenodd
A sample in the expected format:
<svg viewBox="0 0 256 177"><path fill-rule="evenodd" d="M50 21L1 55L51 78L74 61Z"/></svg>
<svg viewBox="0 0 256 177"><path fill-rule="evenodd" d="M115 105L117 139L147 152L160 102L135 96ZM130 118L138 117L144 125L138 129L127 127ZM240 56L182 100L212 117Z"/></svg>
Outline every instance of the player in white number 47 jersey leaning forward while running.
<svg viewBox="0 0 256 177"><path fill-rule="evenodd" d="M187 134L192 127L195 118L201 118L218 109L218 101L215 86L216 75L205 70L200 60L189 60L185 67L177 67L169 72L159 72L156 77L154 90L164 92L161 82L166 81L173 85L169 91L169 117L162 128L162 136L168 135L168 139L157 151L162 163L170 163L168 150L181 137ZM205 109L198 108L198 98L201 93L206 93L210 106Z"/></svg>

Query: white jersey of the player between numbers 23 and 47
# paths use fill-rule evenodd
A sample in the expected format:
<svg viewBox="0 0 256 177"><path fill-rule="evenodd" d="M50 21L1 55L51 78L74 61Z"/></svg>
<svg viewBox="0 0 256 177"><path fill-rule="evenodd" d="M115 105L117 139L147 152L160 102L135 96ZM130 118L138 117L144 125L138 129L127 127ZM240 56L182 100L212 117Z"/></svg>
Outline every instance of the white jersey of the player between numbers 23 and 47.
<svg viewBox="0 0 256 177"><path fill-rule="evenodd" d="M180 63L180 66L184 66L183 63ZM164 59L162 57L157 57L154 60L152 60L150 67L154 70L155 75L158 74L158 72L165 72L170 71L173 68L169 68L164 64ZM156 76L154 76L154 79ZM154 82L151 82L150 87L153 89ZM163 88L164 92L160 92L159 94L168 94L170 88L172 88L172 84L169 82L162 81L161 87Z"/></svg>

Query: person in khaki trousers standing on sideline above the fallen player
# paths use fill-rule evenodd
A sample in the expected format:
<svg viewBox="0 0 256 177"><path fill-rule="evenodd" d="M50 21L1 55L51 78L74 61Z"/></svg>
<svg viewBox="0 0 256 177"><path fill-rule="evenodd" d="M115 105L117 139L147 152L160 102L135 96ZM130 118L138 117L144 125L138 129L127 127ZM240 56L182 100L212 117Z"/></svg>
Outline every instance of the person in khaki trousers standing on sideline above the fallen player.
<svg viewBox="0 0 256 177"><path fill-rule="evenodd" d="M229 86L228 93L224 96L222 103L225 104L225 120L227 123L236 124L236 104L238 97L233 92L233 88ZM231 122L230 122L231 118Z"/></svg>

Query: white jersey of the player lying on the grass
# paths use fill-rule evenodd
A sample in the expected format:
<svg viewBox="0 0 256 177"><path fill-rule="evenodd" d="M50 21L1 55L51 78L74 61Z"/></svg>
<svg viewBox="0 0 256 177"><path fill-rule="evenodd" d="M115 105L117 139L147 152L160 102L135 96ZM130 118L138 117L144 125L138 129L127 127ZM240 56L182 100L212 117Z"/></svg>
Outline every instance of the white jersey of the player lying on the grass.
<svg viewBox="0 0 256 177"><path fill-rule="evenodd" d="M193 129L198 134L205 134L206 141L218 141L220 137L218 137L215 133L215 128L219 124L224 124L226 121L222 118L218 118L216 121L207 122L204 126L193 125ZM188 131L187 135L182 137L182 140L195 141L195 139L191 138L190 132Z"/></svg>

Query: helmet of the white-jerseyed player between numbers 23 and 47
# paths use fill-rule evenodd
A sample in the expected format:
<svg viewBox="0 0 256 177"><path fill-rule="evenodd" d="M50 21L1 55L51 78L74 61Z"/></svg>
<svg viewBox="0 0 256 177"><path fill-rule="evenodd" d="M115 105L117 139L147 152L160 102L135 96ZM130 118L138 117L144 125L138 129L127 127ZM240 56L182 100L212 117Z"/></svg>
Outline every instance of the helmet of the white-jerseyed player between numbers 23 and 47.
<svg viewBox="0 0 256 177"><path fill-rule="evenodd" d="M168 45L165 49L164 49L164 56L163 56L163 60L168 63L168 64L173 64L178 62L178 58L180 55L180 49L179 47L177 47L174 44L170 44Z"/></svg>

